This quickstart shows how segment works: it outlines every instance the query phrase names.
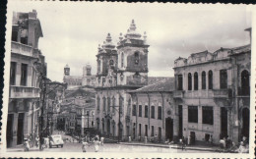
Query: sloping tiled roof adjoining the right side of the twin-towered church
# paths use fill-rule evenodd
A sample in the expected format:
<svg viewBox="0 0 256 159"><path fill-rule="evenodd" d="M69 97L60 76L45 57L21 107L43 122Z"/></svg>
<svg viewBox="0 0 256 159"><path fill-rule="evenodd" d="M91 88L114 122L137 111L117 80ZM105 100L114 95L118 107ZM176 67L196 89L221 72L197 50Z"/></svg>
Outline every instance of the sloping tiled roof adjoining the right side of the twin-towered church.
<svg viewBox="0 0 256 159"><path fill-rule="evenodd" d="M146 85L130 92L170 92L175 90L174 78L162 79L159 82Z"/></svg>

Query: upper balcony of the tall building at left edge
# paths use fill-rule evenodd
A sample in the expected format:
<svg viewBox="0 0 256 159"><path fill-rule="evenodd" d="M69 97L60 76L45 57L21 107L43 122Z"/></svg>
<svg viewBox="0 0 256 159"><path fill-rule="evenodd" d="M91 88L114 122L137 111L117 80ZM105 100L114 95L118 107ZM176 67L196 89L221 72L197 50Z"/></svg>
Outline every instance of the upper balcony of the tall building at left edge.
<svg viewBox="0 0 256 159"><path fill-rule="evenodd" d="M30 45L12 41L12 53L37 58L39 50L33 49Z"/></svg>

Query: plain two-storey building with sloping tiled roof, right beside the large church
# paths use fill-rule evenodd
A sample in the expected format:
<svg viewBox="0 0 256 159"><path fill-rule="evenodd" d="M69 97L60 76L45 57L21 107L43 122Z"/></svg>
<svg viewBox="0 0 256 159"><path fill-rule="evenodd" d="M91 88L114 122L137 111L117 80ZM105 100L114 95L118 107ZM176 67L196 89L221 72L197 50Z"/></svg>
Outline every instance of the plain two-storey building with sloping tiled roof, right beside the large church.
<svg viewBox="0 0 256 159"><path fill-rule="evenodd" d="M132 132L127 135L133 140L142 140L145 136L149 140L175 140L179 116L173 101L174 90L174 78L169 78L130 91Z"/></svg>

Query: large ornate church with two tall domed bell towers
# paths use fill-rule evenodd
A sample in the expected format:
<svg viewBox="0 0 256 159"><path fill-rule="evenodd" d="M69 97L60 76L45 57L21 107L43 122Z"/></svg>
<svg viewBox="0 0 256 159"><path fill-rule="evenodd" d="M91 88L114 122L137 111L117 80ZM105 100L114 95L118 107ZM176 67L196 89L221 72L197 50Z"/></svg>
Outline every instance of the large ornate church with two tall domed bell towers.
<svg viewBox="0 0 256 159"><path fill-rule="evenodd" d="M148 84L148 48L132 21L127 33L113 44L110 33L98 46L96 74L96 129L122 138L131 133L132 99L127 92ZM118 127L118 123L120 125ZM119 133L120 132L120 133Z"/></svg>

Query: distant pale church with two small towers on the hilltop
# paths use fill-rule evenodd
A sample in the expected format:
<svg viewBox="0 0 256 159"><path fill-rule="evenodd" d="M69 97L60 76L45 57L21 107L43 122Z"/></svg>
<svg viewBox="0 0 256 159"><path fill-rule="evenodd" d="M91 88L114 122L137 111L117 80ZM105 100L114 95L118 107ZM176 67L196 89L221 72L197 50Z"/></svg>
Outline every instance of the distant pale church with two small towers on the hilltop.
<svg viewBox="0 0 256 159"><path fill-rule="evenodd" d="M82 85L94 87L96 85L96 76L92 75L92 66L90 64L83 67L83 76L71 76L70 67L66 65L64 68L63 82L68 84L68 89Z"/></svg>

